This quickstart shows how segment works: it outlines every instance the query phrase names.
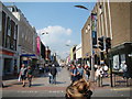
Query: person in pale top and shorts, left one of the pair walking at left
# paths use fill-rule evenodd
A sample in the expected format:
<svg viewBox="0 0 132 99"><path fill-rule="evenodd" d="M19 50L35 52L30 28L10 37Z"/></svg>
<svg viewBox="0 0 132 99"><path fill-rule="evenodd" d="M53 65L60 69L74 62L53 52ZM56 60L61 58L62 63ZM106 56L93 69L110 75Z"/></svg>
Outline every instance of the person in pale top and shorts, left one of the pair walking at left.
<svg viewBox="0 0 132 99"><path fill-rule="evenodd" d="M20 69L20 75L19 75L19 77L21 77L22 82L23 82L22 87L25 87L26 72L28 72L28 69L26 69L25 65L22 64L22 67Z"/></svg>

